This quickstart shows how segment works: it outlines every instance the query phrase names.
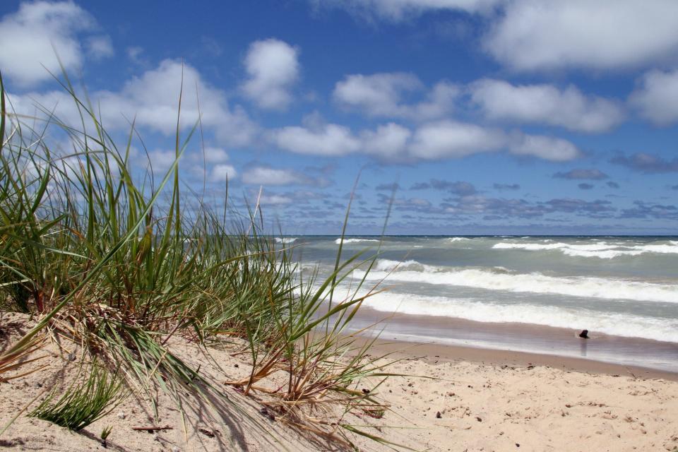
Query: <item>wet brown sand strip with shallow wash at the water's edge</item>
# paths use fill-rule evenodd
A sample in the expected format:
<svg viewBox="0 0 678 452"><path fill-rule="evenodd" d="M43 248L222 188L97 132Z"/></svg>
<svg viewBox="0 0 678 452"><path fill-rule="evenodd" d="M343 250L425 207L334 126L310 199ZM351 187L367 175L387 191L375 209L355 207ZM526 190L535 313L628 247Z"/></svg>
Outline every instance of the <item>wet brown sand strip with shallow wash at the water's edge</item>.
<svg viewBox="0 0 678 452"><path fill-rule="evenodd" d="M577 329L386 313L369 307L362 307L353 321L356 330L376 324L364 335L383 328L378 343L388 352L405 347L412 349L409 355L448 361L522 363L620 375L631 371L636 376L678 381L677 343L595 331L589 331L590 339L585 340L578 338L581 330Z"/></svg>

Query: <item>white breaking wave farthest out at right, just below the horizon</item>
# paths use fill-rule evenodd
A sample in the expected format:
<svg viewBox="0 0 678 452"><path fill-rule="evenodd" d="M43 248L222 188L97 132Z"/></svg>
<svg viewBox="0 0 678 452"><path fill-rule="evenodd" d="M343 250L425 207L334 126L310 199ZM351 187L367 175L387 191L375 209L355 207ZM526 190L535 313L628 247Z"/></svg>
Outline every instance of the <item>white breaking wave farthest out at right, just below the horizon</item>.
<svg viewBox="0 0 678 452"><path fill-rule="evenodd" d="M561 251L566 256L595 257L612 259L619 256L639 256L646 253L655 254L678 254L678 242L669 241L668 244L609 244L597 242L595 244L568 244L568 243L514 243L499 242L492 246L493 249L521 249L524 251Z"/></svg>

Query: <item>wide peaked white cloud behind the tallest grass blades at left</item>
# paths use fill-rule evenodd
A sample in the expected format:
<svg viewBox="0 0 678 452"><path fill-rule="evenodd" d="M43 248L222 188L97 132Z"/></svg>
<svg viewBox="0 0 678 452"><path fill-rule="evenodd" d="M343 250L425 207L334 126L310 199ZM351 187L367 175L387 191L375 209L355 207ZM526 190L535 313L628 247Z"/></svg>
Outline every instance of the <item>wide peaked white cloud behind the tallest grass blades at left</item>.
<svg viewBox="0 0 678 452"><path fill-rule="evenodd" d="M198 121L198 95L202 125L214 130L220 143L246 145L254 140L258 127L244 110L230 109L222 90L203 81L193 66L182 65L180 61L166 59L156 69L131 78L121 90L90 93L90 99L97 105L96 113L101 113L107 129L129 129L129 121L136 118L136 126L171 136L177 127L182 73L182 130L191 129ZM32 113L33 105L41 105L49 111L57 107L57 117L61 121L73 126L80 122L73 100L64 91L13 95L11 100L18 112Z"/></svg>

